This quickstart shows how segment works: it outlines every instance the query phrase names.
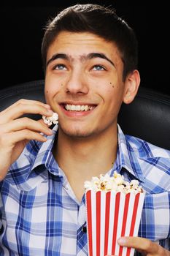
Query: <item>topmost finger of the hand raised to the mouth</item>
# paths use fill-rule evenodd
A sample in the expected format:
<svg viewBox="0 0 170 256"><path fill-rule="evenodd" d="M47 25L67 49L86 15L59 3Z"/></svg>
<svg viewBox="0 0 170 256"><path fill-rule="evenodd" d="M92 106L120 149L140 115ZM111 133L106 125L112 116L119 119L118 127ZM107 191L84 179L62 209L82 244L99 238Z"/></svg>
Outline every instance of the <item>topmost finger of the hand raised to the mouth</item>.
<svg viewBox="0 0 170 256"><path fill-rule="evenodd" d="M13 108L8 108L4 113L1 113L1 124L7 123L8 121L19 118L26 113L39 114L45 116L52 116L53 111L46 108L44 105L40 104L23 104L23 102L18 103Z"/></svg>

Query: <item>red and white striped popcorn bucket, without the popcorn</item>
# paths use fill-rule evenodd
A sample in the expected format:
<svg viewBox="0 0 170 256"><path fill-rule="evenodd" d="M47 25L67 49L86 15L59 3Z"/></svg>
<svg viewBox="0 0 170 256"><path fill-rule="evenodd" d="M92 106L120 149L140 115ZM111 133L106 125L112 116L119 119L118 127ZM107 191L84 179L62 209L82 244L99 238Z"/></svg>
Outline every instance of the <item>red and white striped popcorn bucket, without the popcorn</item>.
<svg viewBox="0 0 170 256"><path fill-rule="evenodd" d="M89 256L133 256L134 249L119 246L120 236L137 236L145 193L85 193Z"/></svg>

